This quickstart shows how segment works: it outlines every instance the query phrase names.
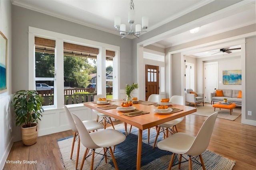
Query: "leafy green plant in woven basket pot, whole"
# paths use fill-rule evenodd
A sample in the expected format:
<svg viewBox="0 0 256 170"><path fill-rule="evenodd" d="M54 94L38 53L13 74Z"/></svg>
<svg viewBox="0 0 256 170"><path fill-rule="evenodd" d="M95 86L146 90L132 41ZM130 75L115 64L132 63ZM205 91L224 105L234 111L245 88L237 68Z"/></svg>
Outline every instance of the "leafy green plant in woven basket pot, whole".
<svg viewBox="0 0 256 170"><path fill-rule="evenodd" d="M12 99L16 126L22 125L21 138L24 145L30 146L36 143L38 137L38 120L41 120L42 97L36 90L20 90Z"/></svg>

